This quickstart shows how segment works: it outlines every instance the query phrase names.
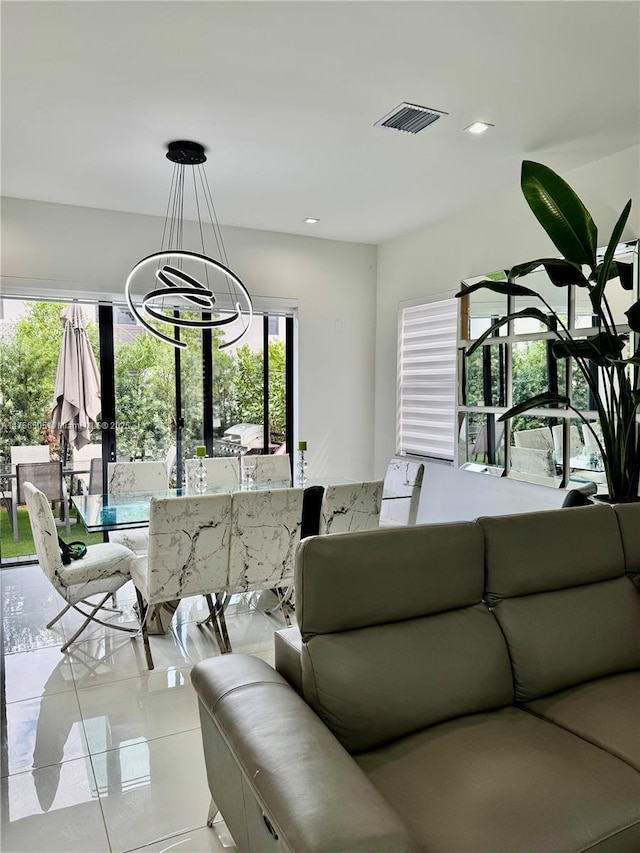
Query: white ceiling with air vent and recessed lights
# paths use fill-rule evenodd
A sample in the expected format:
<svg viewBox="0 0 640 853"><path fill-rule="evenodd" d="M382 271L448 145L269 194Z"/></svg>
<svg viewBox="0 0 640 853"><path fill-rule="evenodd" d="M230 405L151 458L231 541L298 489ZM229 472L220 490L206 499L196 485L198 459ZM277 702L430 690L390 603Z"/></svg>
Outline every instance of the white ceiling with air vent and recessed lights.
<svg viewBox="0 0 640 853"><path fill-rule="evenodd" d="M3 2L2 194L378 243L640 140L637 2ZM449 113L374 127L401 101ZM495 124L484 136L462 129ZM302 223L307 216L320 223Z"/></svg>

